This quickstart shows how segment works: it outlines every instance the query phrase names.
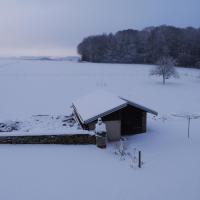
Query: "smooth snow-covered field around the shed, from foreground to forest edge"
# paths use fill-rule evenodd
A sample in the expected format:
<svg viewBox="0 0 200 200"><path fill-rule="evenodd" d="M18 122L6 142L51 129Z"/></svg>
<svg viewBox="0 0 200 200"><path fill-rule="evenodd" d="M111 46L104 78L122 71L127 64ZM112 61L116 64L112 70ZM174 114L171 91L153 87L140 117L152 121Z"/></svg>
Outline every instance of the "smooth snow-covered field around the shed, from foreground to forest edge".
<svg viewBox="0 0 200 200"><path fill-rule="evenodd" d="M148 133L125 142L142 150L142 169L130 158L95 146L0 146L0 199L199 200L200 119L172 113L200 113L200 74L178 69L180 79L149 77L148 65L0 60L0 121L32 115L69 115L74 99L106 89L158 111Z"/></svg>

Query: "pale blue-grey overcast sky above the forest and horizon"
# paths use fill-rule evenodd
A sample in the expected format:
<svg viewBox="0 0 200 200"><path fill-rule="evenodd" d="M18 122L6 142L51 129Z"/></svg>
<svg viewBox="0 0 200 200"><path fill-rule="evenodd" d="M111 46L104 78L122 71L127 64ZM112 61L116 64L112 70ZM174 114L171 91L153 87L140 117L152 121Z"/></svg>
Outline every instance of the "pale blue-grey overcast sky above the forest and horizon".
<svg viewBox="0 0 200 200"><path fill-rule="evenodd" d="M0 56L76 55L91 34L200 27L199 8L200 0L0 0Z"/></svg>

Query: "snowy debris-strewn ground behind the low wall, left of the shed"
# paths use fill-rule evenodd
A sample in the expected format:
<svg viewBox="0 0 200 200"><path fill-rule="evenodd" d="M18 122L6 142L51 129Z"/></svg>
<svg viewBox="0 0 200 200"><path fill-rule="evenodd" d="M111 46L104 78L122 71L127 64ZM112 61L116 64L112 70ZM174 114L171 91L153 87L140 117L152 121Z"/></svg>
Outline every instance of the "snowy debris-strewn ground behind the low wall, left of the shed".
<svg viewBox="0 0 200 200"><path fill-rule="evenodd" d="M35 115L24 121L0 122L0 136L90 134L83 130L73 116Z"/></svg>

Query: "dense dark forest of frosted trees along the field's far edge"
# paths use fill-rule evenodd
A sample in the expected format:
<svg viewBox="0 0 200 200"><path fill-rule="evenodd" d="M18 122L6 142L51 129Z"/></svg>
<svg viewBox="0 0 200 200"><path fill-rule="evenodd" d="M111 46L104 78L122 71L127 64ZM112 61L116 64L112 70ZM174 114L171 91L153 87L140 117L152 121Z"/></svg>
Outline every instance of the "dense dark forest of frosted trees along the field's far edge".
<svg viewBox="0 0 200 200"><path fill-rule="evenodd" d="M82 61L154 64L164 56L178 66L200 68L200 28L173 26L89 36L78 45Z"/></svg>

